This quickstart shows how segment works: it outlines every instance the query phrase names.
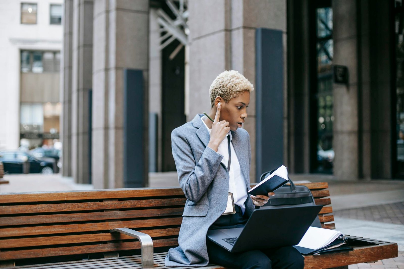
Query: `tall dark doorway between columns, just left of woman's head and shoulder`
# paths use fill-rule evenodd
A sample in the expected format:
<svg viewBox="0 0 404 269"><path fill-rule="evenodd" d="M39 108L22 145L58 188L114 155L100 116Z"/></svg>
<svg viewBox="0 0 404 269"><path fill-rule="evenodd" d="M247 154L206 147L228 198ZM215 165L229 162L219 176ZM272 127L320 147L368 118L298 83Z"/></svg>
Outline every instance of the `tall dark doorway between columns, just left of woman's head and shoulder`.
<svg viewBox="0 0 404 269"><path fill-rule="evenodd" d="M175 40L162 50L162 172L176 170L171 152L171 132L186 122L185 48L182 47L170 59L179 44Z"/></svg>

